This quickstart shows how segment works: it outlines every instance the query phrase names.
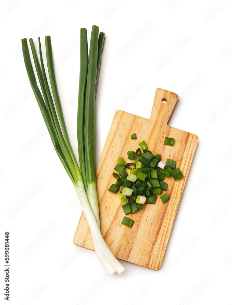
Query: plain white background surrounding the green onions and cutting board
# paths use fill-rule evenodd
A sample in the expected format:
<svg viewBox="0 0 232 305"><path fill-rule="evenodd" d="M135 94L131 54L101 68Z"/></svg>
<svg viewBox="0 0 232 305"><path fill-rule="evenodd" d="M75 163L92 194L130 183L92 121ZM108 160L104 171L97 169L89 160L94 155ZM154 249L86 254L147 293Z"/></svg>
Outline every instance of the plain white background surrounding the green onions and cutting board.
<svg viewBox="0 0 232 305"><path fill-rule="evenodd" d="M10 232L9 304L231 304L232 1L123 0L117 9L112 7L118 0L66 2L1 2L1 304L7 303L5 231ZM94 24L105 33L96 164L113 111L124 101L123 111L149 118L156 88L180 97L168 124L199 137L159 271L121 261L123 274L108 277L93 251L73 244L81 207L30 92L21 38L35 38L37 47L40 36L45 51L44 35L51 35L54 63L60 62L55 65L58 90L76 151L79 30L86 27L90 35ZM136 86L141 90L129 99ZM37 184L40 190L29 199ZM68 260L72 263L62 268Z"/></svg>

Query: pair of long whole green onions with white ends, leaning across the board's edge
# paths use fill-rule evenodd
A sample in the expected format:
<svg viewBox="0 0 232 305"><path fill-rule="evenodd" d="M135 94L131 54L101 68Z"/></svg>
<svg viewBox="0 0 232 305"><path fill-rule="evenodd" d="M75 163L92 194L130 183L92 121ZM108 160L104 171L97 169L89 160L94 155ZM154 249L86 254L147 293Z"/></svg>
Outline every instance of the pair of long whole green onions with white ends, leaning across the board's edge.
<svg viewBox="0 0 232 305"><path fill-rule="evenodd" d="M125 268L114 257L101 235L96 190L94 152L95 96L101 62L101 50L105 37L104 33L100 33L99 36L98 33L99 28L93 26L90 38L90 50L88 53L87 30L80 30L80 79L77 115L77 139L80 168L72 150L64 122L55 80L51 38L50 36L45 36L46 62L51 91L43 63L40 38L39 58L35 50L33 39L29 39L40 88L38 87L35 78L26 38L22 39L22 49L24 63L32 90L38 102L55 151L75 187L83 213L90 226L95 252L108 274L113 274L116 271L121 274Z"/></svg>

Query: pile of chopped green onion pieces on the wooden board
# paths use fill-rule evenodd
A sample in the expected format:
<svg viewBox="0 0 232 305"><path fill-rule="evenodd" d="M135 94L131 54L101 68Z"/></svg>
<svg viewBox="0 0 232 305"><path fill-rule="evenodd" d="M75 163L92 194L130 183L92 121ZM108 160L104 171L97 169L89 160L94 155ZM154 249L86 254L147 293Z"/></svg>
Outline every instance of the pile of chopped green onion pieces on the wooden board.
<svg viewBox="0 0 232 305"><path fill-rule="evenodd" d="M131 135L131 139L136 139L136 134ZM167 159L166 162L161 160L160 154L153 153L148 150L148 146L143 140L138 143L141 149L138 148L135 152L128 151L127 157L129 160L135 160L134 163L125 163L123 157L118 158L118 163L114 168L117 173L113 173L116 178L116 183L112 184L109 191L116 193L123 185L118 195L118 199L123 203L122 208L125 215L134 214L138 210L142 210L144 203L154 204L157 200L157 195L162 191L166 191L160 199L165 203L170 199L167 190L168 184L163 181L164 177L170 175L179 180L183 178L183 174L179 167L176 168L176 161ZM174 138L165 137L164 145L173 145ZM130 169L130 174L125 168ZM121 178L120 178L121 176ZM124 216L122 224L127 227L132 226L134 220Z"/></svg>

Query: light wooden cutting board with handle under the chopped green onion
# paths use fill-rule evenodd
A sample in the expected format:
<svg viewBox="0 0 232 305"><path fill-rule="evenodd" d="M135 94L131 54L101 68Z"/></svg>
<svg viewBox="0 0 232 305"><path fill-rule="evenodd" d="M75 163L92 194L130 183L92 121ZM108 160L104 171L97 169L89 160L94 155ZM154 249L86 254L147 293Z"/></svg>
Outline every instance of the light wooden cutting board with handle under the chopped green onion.
<svg viewBox="0 0 232 305"><path fill-rule="evenodd" d="M160 268L198 142L196 135L167 125L177 99L176 93L158 88L150 119L117 111L96 171L101 233L106 244L115 257L153 270ZM131 140L134 132L137 139ZM175 138L173 146L163 144L165 136ZM175 181L171 176L165 177L163 181L168 183L170 199L163 204L157 195L155 204L144 204L142 210L128 214L127 217L134 220L128 228L121 224L125 214L118 200L119 191L113 194L108 189L116 182L112 173L117 159L123 157L126 163L133 162L127 159L127 151L135 151L142 140L153 154L160 153L164 162L167 158L176 160L176 167L180 168L184 178ZM161 195L164 193L162 191ZM73 242L94 250L83 212Z"/></svg>

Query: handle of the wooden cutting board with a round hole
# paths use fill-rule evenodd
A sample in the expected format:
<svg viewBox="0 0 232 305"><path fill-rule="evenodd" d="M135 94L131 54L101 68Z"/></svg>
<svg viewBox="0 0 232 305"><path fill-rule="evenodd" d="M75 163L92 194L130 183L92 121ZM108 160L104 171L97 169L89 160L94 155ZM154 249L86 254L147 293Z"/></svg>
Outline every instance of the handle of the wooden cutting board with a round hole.
<svg viewBox="0 0 232 305"><path fill-rule="evenodd" d="M156 125L160 124L160 128L164 124L167 125L177 99L178 95L176 93L157 88L150 120L153 120L154 122L156 121Z"/></svg>

